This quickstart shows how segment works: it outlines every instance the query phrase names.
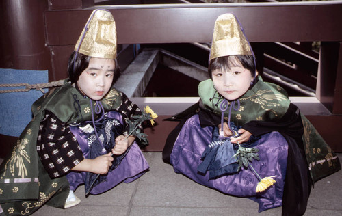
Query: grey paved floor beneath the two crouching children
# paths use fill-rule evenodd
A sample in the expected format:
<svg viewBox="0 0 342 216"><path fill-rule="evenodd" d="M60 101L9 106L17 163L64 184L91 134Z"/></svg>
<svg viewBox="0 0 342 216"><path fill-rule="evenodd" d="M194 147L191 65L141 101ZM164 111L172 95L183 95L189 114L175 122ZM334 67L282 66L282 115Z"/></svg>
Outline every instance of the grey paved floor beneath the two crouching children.
<svg viewBox="0 0 342 216"><path fill-rule="evenodd" d="M122 183L101 195L75 194L81 203L73 208L42 206L39 215L258 215L258 204L198 185L163 163L161 152L144 152L150 171L133 183ZM338 154L341 161L342 154ZM342 162L342 161L341 161ZM305 215L342 215L342 172L319 180L312 189ZM281 208L259 215L281 215Z"/></svg>

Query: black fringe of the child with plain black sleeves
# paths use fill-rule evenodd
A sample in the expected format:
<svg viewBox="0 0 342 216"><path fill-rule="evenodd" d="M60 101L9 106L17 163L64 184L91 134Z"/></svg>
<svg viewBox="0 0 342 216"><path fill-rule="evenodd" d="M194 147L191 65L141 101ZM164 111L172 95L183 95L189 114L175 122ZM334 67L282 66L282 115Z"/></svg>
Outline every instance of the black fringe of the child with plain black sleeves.
<svg viewBox="0 0 342 216"><path fill-rule="evenodd" d="M256 66L253 55L226 55L211 59L208 67L209 77L212 79L211 72L216 69L229 69L235 61L239 61L244 68L250 71L252 77L255 77Z"/></svg>

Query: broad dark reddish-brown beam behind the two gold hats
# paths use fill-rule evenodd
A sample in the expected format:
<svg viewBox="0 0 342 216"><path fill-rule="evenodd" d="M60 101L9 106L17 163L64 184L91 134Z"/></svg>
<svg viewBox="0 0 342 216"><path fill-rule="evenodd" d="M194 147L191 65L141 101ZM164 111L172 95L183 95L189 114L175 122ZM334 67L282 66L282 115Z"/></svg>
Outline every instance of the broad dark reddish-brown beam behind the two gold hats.
<svg viewBox="0 0 342 216"><path fill-rule="evenodd" d="M118 5L46 12L47 45L75 44L95 8L111 11L119 44L211 42L215 19L224 13L239 18L250 42L342 38L342 1Z"/></svg>

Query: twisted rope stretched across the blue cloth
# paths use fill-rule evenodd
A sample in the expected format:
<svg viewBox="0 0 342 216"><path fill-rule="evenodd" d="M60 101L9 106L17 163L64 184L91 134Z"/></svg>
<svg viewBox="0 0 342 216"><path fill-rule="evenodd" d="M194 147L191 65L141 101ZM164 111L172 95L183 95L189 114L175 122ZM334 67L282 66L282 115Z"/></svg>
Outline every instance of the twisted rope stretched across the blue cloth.
<svg viewBox="0 0 342 216"><path fill-rule="evenodd" d="M50 83L40 83L40 84L29 84L29 83L0 84L0 87L19 87L19 86L25 86L25 88L21 88L21 89L0 90L0 94L1 93L11 93L11 92L28 92L29 90L32 90L32 89L40 90L40 92L45 94L43 88L61 86L61 85L63 85L63 83L64 83L64 79L61 79L59 81L50 82Z"/></svg>

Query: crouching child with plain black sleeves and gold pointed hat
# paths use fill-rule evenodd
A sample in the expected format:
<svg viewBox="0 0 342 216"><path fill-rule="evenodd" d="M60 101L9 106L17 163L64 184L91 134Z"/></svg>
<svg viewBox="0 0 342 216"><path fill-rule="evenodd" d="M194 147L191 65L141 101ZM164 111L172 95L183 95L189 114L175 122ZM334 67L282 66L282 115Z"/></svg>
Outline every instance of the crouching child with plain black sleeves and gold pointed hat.
<svg viewBox="0 0 342 216"><path fill-rule="evenodd" d="M173 117L181 122L163 160L201 185L258 202L259 212L282 206L283 215L304 214L311 185L341 169L339 159L285 90L257 76L233 14L215 21L209 76L198 86L200 101ZM304 143L303 136L318 138ZM312 155L312 148L321 151ZM309 170L318 159L324 163Z"/></svg>

